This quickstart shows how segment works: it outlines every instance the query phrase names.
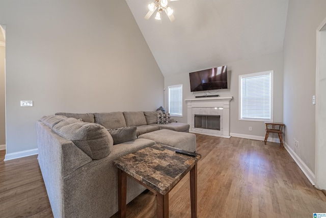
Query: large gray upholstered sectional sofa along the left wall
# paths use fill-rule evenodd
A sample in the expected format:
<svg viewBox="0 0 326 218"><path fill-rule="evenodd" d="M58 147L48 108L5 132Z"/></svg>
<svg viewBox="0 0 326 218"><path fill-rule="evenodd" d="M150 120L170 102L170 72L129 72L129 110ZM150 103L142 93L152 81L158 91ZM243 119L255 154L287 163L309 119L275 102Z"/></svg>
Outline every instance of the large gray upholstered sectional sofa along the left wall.
<svg viewBox="0 0 326 218"><path fill-rule="evenodd" d="M112 216L118 211L113 160L156 143L140 135L189 130L182 123L157 124L156 111L56 113L43 116L36 126L38 161L55 217ZM192 133L173 134L169 141L171 137L178 142L185 141L182 137L195 140L196 147ZM144 190L128 178L127 202Z"/></svg>

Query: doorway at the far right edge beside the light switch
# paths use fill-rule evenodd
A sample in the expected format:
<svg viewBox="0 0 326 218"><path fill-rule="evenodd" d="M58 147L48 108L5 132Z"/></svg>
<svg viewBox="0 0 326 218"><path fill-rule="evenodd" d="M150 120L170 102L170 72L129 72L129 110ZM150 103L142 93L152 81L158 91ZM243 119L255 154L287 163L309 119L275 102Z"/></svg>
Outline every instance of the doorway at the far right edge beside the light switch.
<svg viewBox="0 0 326 218"><path fill-rule="evenodd" d="M317 28L315 186L326 193L326 18ZM326 194L325 194L326 195Z"/></svg>

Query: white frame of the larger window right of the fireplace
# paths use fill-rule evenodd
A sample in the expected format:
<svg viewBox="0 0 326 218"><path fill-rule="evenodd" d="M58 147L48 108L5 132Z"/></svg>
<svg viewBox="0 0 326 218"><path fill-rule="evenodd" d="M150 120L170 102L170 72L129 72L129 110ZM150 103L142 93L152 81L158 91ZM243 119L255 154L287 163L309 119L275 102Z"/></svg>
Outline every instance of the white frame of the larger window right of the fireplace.
<svg viewBox="0 0 326 218"><path fill-rule="evenodd" d="M242 78L257 77L270 75L270 119L263 118L242 118ZM252 74L239 75L239 120L256 121L256 122L273 122L274 114L274 70L254 72Z"/></svg>

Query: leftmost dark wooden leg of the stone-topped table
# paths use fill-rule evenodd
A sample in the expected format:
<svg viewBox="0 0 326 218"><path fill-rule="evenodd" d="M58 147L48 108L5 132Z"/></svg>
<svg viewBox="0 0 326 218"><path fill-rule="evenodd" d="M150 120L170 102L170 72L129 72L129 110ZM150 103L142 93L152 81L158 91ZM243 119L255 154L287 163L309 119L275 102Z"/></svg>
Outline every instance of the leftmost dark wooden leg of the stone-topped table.
<svg viewBox="0 0 326 218"><path fill-rule="evenodd" d="M118 169L118 209L119 218L125 218L127 210L127 176L121 169Z"/></svg>

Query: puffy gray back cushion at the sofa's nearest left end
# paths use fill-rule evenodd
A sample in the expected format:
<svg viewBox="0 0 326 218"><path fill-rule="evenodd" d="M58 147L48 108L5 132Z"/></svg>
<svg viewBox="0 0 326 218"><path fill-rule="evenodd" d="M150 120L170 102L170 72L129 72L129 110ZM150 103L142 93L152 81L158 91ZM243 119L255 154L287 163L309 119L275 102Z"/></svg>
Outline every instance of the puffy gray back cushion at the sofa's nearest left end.
<svg viewBox="0 0 326 218"><path fill-rule="evenodd" d="M80 150L93 160L98 160L110 154L113 138L99 124L84 123L74 118L62 119L53 126L53 131L71 140Z"/></svg>

